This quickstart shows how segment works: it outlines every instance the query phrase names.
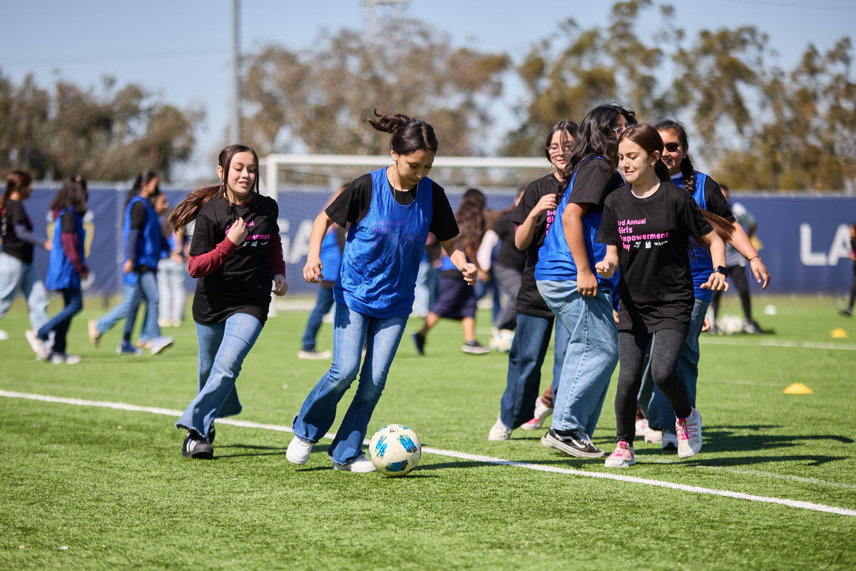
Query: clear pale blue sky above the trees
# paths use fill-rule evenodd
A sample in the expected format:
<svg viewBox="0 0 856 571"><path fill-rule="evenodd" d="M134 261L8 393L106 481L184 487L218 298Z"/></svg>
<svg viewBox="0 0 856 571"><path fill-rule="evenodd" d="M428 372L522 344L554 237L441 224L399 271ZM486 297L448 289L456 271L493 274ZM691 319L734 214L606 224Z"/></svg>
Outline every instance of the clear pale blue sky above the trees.
<svg viewBox="0 0 856 571"><path fill-rule="evenodd" d="M705 27L758 27L770 36L786 68L808 44L824 50L856 30L852 0L672 3L675 25L690 37ZM611 4L411 0L406 15L451 34L455 45L505 51L519 59L568 18L581 27L605 24ZM15 83L32 73L42 86L59 77L85 87L111 75L120 86L140 83L170 104L199 105L206 119L199 128L197 156L174 178L210 170L229 121L230 0L0 0L0 7L3 75ZM254 51L270 42L307 48L324 30L360 29L363 24L362 0L241 0L241 50ZM499 121L510 120L509 113L500 115Z"/></svg>

